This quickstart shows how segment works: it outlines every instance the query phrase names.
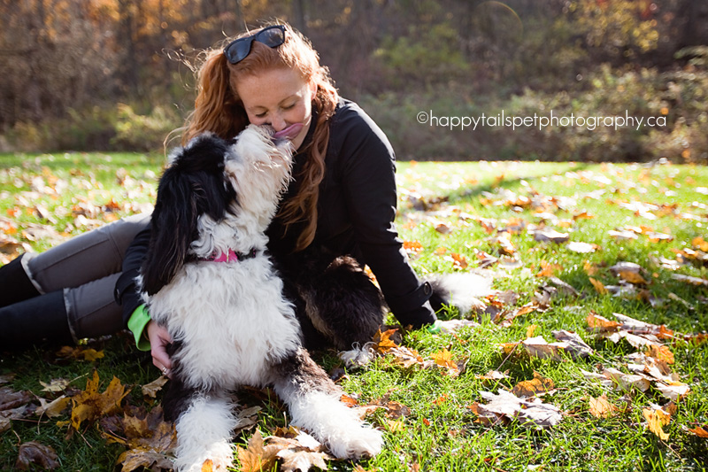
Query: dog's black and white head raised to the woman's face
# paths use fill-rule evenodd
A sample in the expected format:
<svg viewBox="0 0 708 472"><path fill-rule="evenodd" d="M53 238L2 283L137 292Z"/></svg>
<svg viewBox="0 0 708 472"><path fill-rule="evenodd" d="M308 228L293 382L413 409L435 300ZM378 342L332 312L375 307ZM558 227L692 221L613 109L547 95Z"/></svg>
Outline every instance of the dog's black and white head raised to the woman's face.
<svg viewBox="0 0 708 472"><path fill-rule="evenodd" d="M142 291L154 295L189 259L223 250L229 242L216 239L233 235L208 234L214 223L238 218L246 208L265 211L269 221L289 181L289 158L289 143L275 144L267 129L252 126L232 141L204 134L173 151L150 221ZM264 199L273 208L251 208Z"/></svg>

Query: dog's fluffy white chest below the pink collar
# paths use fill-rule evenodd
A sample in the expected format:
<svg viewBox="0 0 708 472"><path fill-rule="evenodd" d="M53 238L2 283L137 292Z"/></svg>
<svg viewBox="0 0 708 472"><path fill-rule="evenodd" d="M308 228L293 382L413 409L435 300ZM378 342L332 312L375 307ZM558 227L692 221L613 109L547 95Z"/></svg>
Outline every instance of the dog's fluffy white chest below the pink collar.
<svg viewBox="0 0 708 472"><path fill-rule="evenodd" d="M185 266L150 300L150 314L183 342L177 361L191 386L265 383L270 364L300 342L265 257Z"/></svg>

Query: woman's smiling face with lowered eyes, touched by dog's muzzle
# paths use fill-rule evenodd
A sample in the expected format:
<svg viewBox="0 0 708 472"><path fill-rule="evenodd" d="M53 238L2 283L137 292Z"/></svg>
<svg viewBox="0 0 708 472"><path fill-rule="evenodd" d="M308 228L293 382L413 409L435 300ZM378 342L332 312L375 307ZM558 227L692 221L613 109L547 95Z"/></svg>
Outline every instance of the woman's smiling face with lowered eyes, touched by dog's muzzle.
<svg viewBox="0 0 708 472"><path fill-rule="evenodd" d="M268 69L243 77L236 85L249 121L270 125L278 137L286 137L295 149L303 143L312 121L314 82L305 81L289 68Z"/></svg>

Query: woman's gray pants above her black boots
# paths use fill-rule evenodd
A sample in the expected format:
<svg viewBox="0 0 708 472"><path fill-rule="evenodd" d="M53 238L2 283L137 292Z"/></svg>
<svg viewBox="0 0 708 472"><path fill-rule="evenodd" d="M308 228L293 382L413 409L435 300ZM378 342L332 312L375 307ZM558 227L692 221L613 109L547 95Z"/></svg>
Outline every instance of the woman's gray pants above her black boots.
<svg viewBox="0 0 708 472"><path fill-rule="evenodd" d="M75 340L123 328L122 309L113 299L113 290L127 246L149 221L150 213L130 216L22 259L40 293L64 290L69 329Z"/></svg>

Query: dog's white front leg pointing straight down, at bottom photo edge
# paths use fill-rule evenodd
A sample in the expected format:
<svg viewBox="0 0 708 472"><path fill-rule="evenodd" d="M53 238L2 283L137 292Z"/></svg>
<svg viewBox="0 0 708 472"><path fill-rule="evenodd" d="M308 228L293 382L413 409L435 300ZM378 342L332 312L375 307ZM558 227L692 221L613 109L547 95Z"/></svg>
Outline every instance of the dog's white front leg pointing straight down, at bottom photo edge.
<svg viewBox="0 0 708 472"><path fill-rule="evenodd" d="M175 470L198 472L205 460L212 469L226 472L234 461L231 435L236 426L230 398L218 392L195 392L175 422L177 450Z"/></svg>

